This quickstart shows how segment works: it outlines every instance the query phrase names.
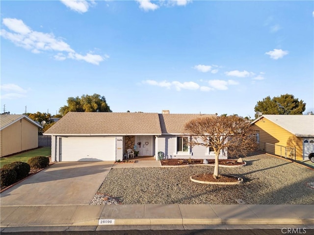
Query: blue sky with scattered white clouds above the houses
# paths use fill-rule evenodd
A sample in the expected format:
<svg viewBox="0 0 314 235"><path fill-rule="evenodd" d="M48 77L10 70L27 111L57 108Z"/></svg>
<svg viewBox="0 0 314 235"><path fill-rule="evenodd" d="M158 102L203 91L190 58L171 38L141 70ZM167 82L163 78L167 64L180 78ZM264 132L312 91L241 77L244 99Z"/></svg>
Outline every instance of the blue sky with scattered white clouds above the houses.
<svg viewBox="0 0 314 235"><path fill-rule="evenodd" d="M293 94L314 111L313 1L1 1L1 113L238 114Z"/></svg>

